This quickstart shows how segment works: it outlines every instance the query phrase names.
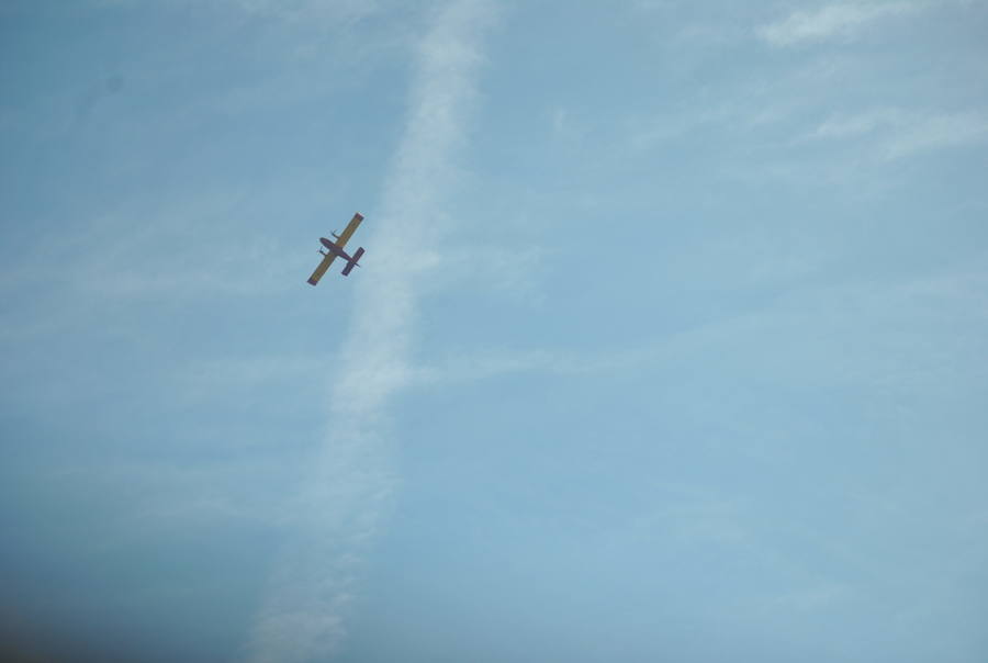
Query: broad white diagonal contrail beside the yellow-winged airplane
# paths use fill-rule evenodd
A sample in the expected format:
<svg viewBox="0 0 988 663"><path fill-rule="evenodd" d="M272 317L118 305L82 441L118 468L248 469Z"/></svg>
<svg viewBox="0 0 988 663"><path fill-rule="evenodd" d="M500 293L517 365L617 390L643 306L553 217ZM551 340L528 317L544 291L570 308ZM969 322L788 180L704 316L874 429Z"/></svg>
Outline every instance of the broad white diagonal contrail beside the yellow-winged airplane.
<svg viewBox="0 0 988 663"><path fill-rule="evenodd" d="M329 427L311 484L299 495L303 532L288 546L248 644L255 663L326 660L346 633L362 554L395 485L386 435L388 398L408 380L416 290L428 270L419 258L441 235L437 213L462 143L478 44L491 8L480 0L442 7L417 44L405 130L368 214L366 267L356 276L357 310L336 371ZM353 279L353 277L351 277Z"/></svg>

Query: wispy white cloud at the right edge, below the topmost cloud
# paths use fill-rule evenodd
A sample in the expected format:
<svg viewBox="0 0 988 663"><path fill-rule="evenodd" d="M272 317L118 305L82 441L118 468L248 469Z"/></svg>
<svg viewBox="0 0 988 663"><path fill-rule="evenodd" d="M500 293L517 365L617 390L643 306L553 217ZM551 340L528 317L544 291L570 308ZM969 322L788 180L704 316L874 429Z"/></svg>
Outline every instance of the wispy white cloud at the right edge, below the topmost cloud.
<svg viewBox="0 0 988 663"><path fill-rule="evenodd" d="M874 137L883 158L898 159L916 153L988 141L988 113L877 109L829 117L810 134L813 139L860 139L863 136Z"/></svg>

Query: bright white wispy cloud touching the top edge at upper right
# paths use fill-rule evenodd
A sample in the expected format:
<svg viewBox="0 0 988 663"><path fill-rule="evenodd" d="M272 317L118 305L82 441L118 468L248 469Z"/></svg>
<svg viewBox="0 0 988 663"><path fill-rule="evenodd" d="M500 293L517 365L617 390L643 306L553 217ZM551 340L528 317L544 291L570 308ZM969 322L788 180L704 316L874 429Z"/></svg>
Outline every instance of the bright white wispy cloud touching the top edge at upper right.
<svg viewBox="0 0 988 663"><path fill-rule="evenodd" d="M757 35L772 46L795 46L832 37L847 37L869 23L889 16L916 13L928 2L841 2L816 11L797 11L787 18L763 25Z"/></svg>

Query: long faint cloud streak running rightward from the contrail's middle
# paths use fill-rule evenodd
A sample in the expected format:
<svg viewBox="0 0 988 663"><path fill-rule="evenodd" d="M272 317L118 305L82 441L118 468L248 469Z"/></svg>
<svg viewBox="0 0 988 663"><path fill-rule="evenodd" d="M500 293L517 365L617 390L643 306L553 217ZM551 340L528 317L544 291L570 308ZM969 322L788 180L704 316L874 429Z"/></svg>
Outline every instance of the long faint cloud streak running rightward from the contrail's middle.
<svg viewBox="0 0 988 663"><path fill-rule="evenodd" d="M801 339L807 328L843 329L847 324L860 324L861 311L869 312L873 325L889 324L900 315L924 316L931 311L931 303L936 302L938 316L943 317L945 311L958 319L983 319L985 317L988 292L988 272L979 267L951 268L942 272L932 272L917 278L895 281L887 284L863 284L857 280L843 283L819 282L807 284L791 291L765 306L740 311L709 323L683 329L678 333L659 337L639 346L600 348L594 350L568 350L553 348L478 348L473 350L452 351L436 357L430 362L414 367L407 373L417 385L424 387L460 386L483 380L497 380L525 373L559 375L565 379L584 379L596 375L641 373L645 371L675 370L684 357L707 355L709 348L732 344L750 344L756 347L768 334L776 334L779 341L771 346L774 358L790 353L791 363L766 360L761 369L768 374L773 370L787 371L800 361L805 345ZM784 263L781 269L789 269ZM846 316L840 315L842 306L851 302ZM796 332L801 329L800 332ZM845 336L843 332L834 333L834 337ZM823 342L829 342L823 341ZM834 355L844 357L847 348L842 347ZM871 349L867 352L872 352ZM918 355L916 361L921 361ZM853 357L846 364L832 362L827 367L816 367L816 377L841 381L847 375L855 379L866 374L867 364L877 362L874 355ZM910 359L912 361L912 359ZM901 375L902 361L890 370ZM884 369L883 369L884 370ZM901 386L901 385L899 385Z"/></svg>

